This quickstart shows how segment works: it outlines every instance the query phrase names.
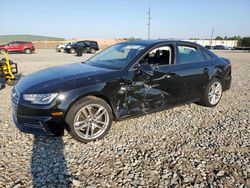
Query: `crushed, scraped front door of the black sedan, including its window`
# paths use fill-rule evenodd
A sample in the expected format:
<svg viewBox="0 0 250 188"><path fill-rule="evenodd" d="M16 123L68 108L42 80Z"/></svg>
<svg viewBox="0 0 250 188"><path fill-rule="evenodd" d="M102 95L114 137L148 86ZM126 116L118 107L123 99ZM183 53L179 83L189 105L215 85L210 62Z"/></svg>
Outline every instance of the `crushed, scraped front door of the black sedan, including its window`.
<svg viewBox="0 0 250 188"><path fill-rule="evenodd" d="M157 111L176 104L178 84L171 70L174 46L152 49L128 72L126 104L129 115Z"/></svg>

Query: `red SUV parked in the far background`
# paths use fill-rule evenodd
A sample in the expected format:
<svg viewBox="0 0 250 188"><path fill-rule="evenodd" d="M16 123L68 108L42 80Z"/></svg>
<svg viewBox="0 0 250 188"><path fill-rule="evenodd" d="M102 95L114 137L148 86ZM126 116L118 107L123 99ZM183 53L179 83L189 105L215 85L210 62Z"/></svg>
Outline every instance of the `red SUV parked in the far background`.
<svg viewBox="0 0 250 188"><path fill-rule="evenodd" d="M24 52L26 54L31 54L35 51L35 47L32 42L24 41L13 41L5 45L0 45L0 53L5 52Z"/></svg>

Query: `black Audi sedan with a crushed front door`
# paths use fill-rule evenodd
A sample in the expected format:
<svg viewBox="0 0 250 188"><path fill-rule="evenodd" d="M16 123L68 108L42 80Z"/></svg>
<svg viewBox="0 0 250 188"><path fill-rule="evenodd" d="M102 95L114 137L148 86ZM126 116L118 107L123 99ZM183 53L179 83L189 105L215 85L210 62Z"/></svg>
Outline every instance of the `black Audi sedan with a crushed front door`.
<svg viewBox="0 0 250 188"><path fill-rule="evenodd" d="M216 106L230 85L230 61L198 44L125 42L21 79L12 90L13 119L22 132L66 129L86 143L107 134L113 121L183 103Z"/></svg>

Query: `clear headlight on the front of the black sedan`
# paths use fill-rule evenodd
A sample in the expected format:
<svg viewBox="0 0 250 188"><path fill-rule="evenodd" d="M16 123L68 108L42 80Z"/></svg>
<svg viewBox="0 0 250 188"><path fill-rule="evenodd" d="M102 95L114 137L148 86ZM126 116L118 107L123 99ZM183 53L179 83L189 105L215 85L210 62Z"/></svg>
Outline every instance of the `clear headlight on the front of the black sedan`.
<svg viewBox="0 0 250 188"><path fill-rule="evenodd" d="M50 104L57 96L57 93L47 94L24 94L23 99L32 104Z"/></svg>

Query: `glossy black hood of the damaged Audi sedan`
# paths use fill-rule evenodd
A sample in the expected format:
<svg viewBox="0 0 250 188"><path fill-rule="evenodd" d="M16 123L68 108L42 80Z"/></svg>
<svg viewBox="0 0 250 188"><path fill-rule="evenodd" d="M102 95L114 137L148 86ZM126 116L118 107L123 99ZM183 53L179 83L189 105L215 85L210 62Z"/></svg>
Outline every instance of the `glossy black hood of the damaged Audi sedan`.
<svg viewBox="0 0 250 188"><path fill-rule="evenodd" d="M20 93L61 92L105 81L105 75L112 71L83 63L57 66L23 77L15 88Z"/></svg>

